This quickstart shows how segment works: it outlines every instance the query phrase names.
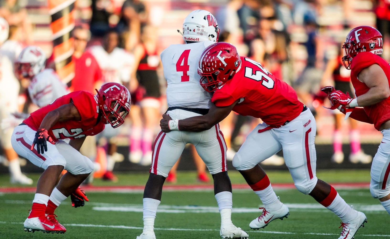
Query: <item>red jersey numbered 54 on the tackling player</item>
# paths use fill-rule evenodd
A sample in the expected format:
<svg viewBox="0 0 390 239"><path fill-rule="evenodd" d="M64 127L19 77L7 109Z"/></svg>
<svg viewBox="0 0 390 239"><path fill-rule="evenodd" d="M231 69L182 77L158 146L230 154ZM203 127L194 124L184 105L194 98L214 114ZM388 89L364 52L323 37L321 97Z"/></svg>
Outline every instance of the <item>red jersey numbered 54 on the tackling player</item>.
<svg viewBox="0 0 390 239"><path fill-rule="evenodd" d="M211 101L218 107L231 105L243 116L261 118L268 125L283 125L303 109L293 87L266 71L260 63L241 58L241 69L226 84L216 89Z"/></svg>

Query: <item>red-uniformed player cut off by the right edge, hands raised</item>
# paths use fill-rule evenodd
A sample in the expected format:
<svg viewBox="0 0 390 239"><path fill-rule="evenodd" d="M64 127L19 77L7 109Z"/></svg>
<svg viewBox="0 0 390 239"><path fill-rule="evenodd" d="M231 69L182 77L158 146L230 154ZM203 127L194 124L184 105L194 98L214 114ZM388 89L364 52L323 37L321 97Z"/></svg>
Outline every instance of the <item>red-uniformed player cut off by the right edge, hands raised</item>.
<svg viewBox="0 0 390 239"><path fill-rule="evenodd" d="M374 124L383 134L372 160L370 191L390 214L390 66L379 56L383 52L382 34L373 27L355 27L342 47L346 52L342 60L351 69L356 98L330 86L323 91L328 93L332 109L338 107L355 120Z"/></svg>

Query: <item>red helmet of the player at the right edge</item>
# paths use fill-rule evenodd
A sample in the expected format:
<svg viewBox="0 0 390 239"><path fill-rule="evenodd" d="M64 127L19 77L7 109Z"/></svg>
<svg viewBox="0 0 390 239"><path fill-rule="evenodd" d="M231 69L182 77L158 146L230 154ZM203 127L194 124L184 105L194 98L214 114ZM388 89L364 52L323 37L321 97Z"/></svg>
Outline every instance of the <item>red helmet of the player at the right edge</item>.
<svg viewBox="0 0 390 239"><path fill-rule="evenodd" d="M350 70L351 62L359 52L371 52L381 55L383 52L382 34L374 27L360 26L352 29L344 42L345 56L342 57L344 66Z"/></svg>

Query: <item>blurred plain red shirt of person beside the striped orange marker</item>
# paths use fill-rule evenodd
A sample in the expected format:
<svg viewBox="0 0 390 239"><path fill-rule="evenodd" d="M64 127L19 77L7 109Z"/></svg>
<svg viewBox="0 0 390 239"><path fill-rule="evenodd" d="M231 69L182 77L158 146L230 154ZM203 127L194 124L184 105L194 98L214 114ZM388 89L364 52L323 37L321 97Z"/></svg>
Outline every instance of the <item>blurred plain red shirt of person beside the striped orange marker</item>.
<svg viewBox="0 0 390 239"><path fill-rule="evenodd" d="M74 61L74 78L72 91L87 90L95 93L95 83L102 78L102 73L95 57L90 52L84 52L80 58L72 57Z"/></svg>

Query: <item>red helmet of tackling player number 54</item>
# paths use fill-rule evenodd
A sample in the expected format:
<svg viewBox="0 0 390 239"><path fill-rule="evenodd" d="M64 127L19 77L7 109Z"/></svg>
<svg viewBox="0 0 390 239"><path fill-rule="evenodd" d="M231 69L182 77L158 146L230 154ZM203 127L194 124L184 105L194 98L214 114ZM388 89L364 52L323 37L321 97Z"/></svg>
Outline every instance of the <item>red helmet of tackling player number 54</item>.
<svg viewBox="0 0 390 239"><path fill-rule="evenodd" d="M199 59L198 74L200 85L208 92L225 84L241 68L241 59L235 46L218 42L202 52Z"/></svg>

